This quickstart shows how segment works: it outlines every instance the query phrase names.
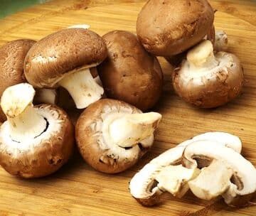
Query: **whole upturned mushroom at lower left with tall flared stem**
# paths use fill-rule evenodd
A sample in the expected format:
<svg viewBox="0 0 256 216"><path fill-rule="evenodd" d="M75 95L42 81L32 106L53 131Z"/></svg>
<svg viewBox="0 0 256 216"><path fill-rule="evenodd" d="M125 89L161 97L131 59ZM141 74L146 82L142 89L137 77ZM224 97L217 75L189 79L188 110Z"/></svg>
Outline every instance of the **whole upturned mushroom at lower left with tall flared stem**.
<svg viewBox="0 0 256 216"><path fill-rule="evenodd" d="M54 105L33 107L28 83L8 87L1 97L7 121L0 127L0 165L23 178L57 171L73 152L74 130L68 115Z"/></svg>

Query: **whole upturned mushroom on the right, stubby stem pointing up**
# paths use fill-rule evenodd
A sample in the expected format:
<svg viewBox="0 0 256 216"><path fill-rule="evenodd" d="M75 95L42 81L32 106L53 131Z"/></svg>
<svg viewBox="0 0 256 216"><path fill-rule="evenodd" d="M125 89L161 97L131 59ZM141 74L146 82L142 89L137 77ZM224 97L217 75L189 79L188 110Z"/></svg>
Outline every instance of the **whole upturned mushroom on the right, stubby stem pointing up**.
<svg viewBox="0 0 256 216"><path fill-rule="evenodd" d="M186 102L202 108L221 106L238 96L244 76L240 60L231 53L213 53L210 41L188 51L174 70L174 90Z"/></svg>

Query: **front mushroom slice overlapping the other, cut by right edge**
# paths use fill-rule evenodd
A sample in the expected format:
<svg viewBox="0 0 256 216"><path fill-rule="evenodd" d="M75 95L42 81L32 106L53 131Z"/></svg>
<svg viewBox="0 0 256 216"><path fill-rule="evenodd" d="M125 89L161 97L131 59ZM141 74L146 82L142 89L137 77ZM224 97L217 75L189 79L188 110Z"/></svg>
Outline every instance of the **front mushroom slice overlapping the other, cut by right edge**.
<svg viewBox="0 0 256 216"><path fill-rule="evenodd" d="M223 195L228 205L246 205L256 191L256 169L240 153L215 141L195 141L183 151L186 168L203 168L188 185L204 200ZM210 182L209 182L210 181Z"/></svg>

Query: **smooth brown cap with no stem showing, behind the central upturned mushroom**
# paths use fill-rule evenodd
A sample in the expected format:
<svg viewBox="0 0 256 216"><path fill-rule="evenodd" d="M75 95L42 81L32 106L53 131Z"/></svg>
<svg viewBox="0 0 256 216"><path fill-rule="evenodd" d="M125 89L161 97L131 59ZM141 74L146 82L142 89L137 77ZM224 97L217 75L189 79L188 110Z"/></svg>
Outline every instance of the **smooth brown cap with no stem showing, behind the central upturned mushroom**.
<svg viewBox="0 0 256 216"><path fill-rule="evenodd" d="M107 97L146 110L158 101L163 75L158 60L144 50L127 31L111 31L102 37L108 56L98 66Z"/></svg>

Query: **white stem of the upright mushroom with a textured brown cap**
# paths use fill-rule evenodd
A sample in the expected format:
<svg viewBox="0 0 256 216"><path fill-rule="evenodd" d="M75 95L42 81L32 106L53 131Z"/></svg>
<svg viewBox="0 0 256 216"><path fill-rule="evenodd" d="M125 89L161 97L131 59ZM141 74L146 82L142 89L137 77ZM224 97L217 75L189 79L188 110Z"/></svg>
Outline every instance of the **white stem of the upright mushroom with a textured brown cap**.
<svg viewBox="0 0 256 216"><path fill-rule="evenodd" d="M84 109L100 99L104 93L103 88L92 77L90 69L82 68L63 77L58 85L70 93L78 109Z"/></svg>

